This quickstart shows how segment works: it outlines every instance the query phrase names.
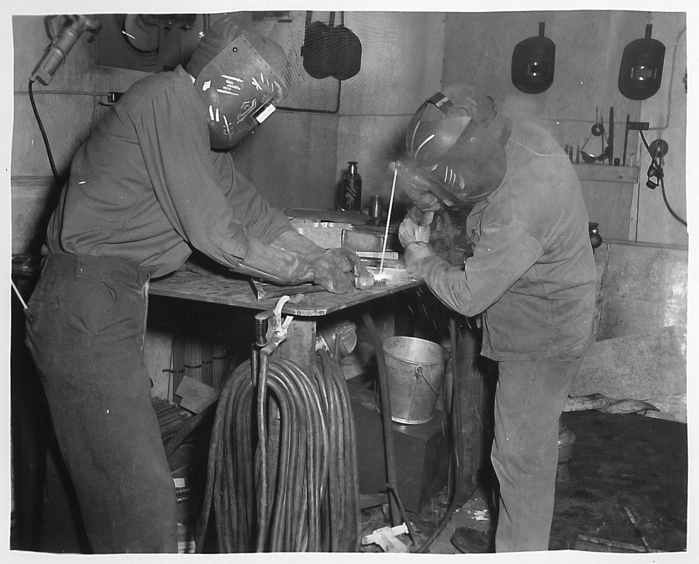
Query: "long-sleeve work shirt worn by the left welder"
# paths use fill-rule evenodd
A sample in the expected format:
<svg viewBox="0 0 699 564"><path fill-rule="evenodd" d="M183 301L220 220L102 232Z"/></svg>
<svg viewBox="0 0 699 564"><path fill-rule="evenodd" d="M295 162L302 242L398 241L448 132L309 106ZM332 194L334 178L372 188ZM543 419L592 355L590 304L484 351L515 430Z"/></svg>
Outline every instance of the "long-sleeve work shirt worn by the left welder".
<svg viewBox="0 0 699 564"><path fill-rule="evenodd" d="M49 252L179 268L199 249L235 268L250 238L293 229L231 154L210 148L206 108L181 66L138 80L78 149L48 226Z"/></svg>

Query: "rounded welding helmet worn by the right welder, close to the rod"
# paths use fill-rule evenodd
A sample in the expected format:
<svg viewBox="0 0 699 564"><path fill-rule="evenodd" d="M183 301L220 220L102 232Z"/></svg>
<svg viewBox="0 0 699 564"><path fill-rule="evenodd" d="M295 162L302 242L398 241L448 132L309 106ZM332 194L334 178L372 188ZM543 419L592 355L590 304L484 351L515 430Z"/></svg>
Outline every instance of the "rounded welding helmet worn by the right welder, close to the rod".
<svg viewBox="0 0 699 564"><path fill-rule="evenodd" d="M428 189L447 206L473 204L505 178L505 147L488 126L495 103L475 87L458 84L436 92L408 124L410 161L396 161L401 177Z"/></svg>

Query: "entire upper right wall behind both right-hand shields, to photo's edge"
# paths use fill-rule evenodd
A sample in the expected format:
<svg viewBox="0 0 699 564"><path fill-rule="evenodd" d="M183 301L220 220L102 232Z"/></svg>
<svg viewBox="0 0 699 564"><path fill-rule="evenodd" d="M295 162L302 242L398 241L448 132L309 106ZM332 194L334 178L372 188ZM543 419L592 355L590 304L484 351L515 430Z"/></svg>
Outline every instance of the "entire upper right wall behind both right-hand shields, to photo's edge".
<svg viewBox="0 0 699 564"><path fill-rule="evenodd" d="M519 41L538 35L538 23L556 44L553 85L542 94L522 94L510 78L512 50ZM660 92L646 101L626 99L618 88L619 66L630 41L643 38L646 24L653 24L653 37L665 44L665 70ZM668 154L670 180L668 200L685 212L685 124L686 92L682 78L686 70L686 15L631 10L571 10L550 12L449 13L445 34L445 85L470 80L491 92L510 113L533 119L545 126L561 145L584 145L586 152L600 154L602 138L591 137L591 126L604 119L609 131L610 107L614 108L614 157L624 160L626 117L650 122L652 139L663 136L676 147ZM672 73L674 58L674 73ZM670 74L672 73L672 77ZM667 116L670 114L670 121ZM662 131L654 133L654 128ZM648 166L638 135L630 132L626 163L642 158ZM686 245L684 226L665 210L660 190L649 191L641 179L636 186L637 217L630 224L630 238L648 243ZM603 190L587 190L591 216L610 215L617 196ZM623 205L627 198L624 196ZM624 210L619 210L621 213ZM633 210L635 213L636 210ZM629 217L632 211L628 210ZM617 212L612 213L616 217ZM630 219L629 219L630 221ZM628 224L628 222L626 222ZM616 231L617 227L614 227Z"/></svg>

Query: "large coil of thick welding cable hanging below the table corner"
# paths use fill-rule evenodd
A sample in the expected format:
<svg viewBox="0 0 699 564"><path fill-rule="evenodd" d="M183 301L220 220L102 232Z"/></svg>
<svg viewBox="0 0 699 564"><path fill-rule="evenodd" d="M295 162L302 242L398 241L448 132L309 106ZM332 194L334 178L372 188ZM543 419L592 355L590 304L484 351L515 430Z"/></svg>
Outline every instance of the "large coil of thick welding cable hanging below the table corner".
<svg viewBox="0 0 699 564"><path fill-rule="evenodd" d="M313 377L264 352L231 372L212 427L200 553L211 514L219 552L359 550L354 417L329 354L317 354Z"/></svg>

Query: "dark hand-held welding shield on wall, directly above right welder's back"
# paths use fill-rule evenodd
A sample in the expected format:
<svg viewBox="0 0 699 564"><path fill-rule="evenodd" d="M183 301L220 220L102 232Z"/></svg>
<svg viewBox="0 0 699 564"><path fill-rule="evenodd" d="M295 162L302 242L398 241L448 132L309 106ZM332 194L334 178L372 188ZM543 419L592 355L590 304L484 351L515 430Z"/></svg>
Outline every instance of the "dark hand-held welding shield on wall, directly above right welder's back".
<svg viewBox="0 0 699 564"><path fill-rule="evenodd" d="M512 84L525 94L541 94L554 82L556 45L544 37L544 22L539 35L520 41L512 52Z"/></svg>

